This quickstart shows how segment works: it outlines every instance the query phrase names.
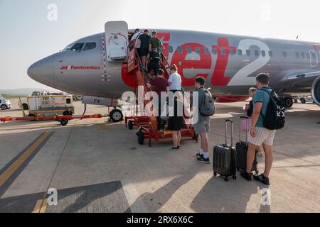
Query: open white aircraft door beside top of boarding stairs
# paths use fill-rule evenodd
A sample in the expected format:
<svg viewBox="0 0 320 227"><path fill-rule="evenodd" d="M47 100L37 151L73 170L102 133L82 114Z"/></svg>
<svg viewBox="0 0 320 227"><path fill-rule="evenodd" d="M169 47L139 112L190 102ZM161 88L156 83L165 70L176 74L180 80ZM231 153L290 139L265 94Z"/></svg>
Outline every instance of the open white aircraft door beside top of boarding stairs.
<svg viewBox="0 0 320 227"><path fill-rule="evenodd" d="M127 60L128 25L125 21L105 23L105 49L108 62Z"/></svg>

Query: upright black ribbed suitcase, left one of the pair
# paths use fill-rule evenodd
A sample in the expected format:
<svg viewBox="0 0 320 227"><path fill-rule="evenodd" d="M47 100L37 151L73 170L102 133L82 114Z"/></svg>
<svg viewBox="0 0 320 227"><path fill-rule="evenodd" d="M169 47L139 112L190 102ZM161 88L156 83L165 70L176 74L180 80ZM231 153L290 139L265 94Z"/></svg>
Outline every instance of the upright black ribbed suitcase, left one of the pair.
<svg viewBox="0 0 320 227"><path fill-rule="evenodd" d="M231 144L227 143L227 127L228 122L231 123ZM213 148L213 175L221 175L225 182L228 177L232 176L236 179L235 173L235 148L233 147L233 121L225 120L225 144L216 145Z"/></svg>

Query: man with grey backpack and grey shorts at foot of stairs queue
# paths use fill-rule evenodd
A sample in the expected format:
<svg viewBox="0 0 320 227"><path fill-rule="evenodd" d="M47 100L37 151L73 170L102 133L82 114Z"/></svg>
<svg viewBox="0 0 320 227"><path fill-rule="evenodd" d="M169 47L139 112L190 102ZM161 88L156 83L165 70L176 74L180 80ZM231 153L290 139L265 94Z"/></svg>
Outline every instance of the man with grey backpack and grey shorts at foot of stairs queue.
<svg viewBox="0 0 320 227"><path fill-rule="evenodd" d="M210 130L210 116L215 112L213 97L204 88L205 79L203 77L196 77L196 92L198 92L198 122L193 125L197 134L201 137L201 149L198 150L196 157L199 162L210 164L208 153L208 132Z"/></svg>

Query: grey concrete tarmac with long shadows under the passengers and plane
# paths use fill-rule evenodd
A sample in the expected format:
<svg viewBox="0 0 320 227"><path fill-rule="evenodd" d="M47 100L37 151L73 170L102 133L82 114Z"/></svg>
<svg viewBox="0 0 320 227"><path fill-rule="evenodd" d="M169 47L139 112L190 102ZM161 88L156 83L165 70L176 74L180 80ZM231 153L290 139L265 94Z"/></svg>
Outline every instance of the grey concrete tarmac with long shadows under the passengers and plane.
<svg viewBox="0 0 320 227"><path fill-rule="evenodd" d="M17 100L0 116L21 116ZM213 146L225 141L232 118L239 140L245 103L216 104L210 125ZM83 105L75 101L76 114ZM107 107L87 106L86 114ZM199 143L137 143L136 128L107 118L0 123L0 212L320 212L320 107L294 104L274 139L270 187L240 177L213 177L197 162ZM264 157L258 157L260 172ZM58 202L47 202L57 190Z"/></svg>

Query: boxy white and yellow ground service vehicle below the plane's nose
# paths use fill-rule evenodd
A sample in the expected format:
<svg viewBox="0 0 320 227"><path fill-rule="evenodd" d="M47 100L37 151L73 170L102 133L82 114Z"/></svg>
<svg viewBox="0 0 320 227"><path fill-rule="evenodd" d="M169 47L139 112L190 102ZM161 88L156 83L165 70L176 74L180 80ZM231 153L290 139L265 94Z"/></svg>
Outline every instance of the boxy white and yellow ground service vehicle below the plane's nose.
<svg viewBox="0 0 320 227"><path fill-rule="evenodd" d="M27 96L21 101L21 109L23 116L72 115L75 112L71 95Z"/></svg>

